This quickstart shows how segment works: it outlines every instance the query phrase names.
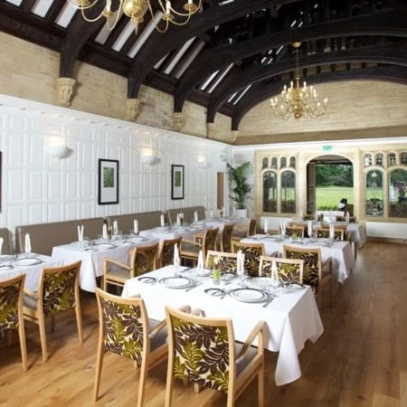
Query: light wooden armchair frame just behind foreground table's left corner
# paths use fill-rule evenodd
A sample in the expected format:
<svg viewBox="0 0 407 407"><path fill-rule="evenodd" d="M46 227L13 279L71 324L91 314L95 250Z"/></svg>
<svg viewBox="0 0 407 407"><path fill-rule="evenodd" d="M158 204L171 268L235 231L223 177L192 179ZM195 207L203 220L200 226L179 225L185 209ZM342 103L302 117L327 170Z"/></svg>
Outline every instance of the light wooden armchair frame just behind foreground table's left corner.
<svg viewBox="0 0 407 407"><path fill-rule="evenodd" d="M125 282L128 279L132 279L137 276L137 255L139 253L145 253L146 251L156 251L154 255L154 261L151 266L151 270L156 270L156 258L158 254L158 245L159 243L156 242L154 244L149 244L148 246L136 246L134 249L130 251L130 265L124 264L118 260L106 258L103 260L103 289L107 291L108 284L112 284L118 287L124 287ZM128 275L115 275L114 273L109 273L109 266L117 266L122 269L126 274L128 271ZM148 270L148 271L151 271Z"/></svg>

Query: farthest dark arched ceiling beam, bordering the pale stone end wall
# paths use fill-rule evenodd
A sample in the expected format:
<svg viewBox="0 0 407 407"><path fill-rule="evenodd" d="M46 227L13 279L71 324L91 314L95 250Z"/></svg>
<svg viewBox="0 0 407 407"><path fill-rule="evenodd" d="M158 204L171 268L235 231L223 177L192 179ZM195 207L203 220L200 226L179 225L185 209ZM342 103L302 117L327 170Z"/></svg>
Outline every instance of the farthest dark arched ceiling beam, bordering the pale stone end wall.
<svg viewBox="0 0 407 407"><path fill-rule="evenodd" d="M407 67L378 66L353 71L324 72L318 75L311 75L308 80L312 84L324 82L336 82L344 80L384 80L399 83L407 90ZM239 103L235 107L232 115L232 130L238 130L241 119L246 113L266 99L281 91L281 83L273 83L268 86L259 86L250 98L246 98L244 103Z"/></svg>

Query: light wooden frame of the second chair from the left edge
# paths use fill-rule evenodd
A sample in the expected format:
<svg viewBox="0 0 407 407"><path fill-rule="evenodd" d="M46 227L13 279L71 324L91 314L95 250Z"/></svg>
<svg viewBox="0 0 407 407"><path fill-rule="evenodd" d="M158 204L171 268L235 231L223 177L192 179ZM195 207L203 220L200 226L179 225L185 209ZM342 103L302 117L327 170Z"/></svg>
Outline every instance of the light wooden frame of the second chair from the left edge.
<svg viewBox="0 0 407 407"><path fill-rule="evenodd" d="M24 305L24 319L31 321L34 324L37 324L40 330L40 339L41 339L41 348L43 351L43 361L48 360L48 351L47 351L47 338L45 333L45 317L43 311L43 298L45 296L44 292L44 279L47 274L59 274L68 270L75 270L74 278L74 297L75 303L73 308L75 308L76 324L78 327L78 335L80 339L80 344L83 343L83 334L82 334L82 318L80 313L80 290L79 290L79 276L80 276L80 264L81 260L76 261L75 263L67 264L61 267L54 267L49 269L43 269L40 276L40 282L38 286L38 292L33 293L25 290L25 295L31 297L33 301L36 301L36 308L30 308ZM25 303L25 299L24 299ZM52 331L55 329L55 313L51 314L51 327Z"/></svg>

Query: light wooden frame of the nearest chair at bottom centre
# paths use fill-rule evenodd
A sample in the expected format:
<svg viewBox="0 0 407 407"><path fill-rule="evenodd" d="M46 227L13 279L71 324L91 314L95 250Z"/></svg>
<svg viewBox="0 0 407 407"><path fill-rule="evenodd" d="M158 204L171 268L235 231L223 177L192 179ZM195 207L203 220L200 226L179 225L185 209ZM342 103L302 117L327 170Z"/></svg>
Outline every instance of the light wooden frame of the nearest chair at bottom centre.
<svg viewBox="0 0 407 407"><path fill-rule="evenodd" d="M166 407L172 405L172 395L174 386L174 364L175 364L175 333L171 317L177 317L185 322L199 324L205 327L226 327L229 343L229 381L227 389L227 407L234 406L234 402L241 393L247 388L251 381L257 376L258 378L258 406L264 406L264 328L265 323L260 321L251 330L246 341L236 355L235 340L230 318L210 318L202 317L192 313L185 313L175 308L166 307L166 320L168 328L168 371L166 375ZM244 369L237 374L237 364L243 360L246 352L251 348L254 339L257 338L257 354Z"/></svg>

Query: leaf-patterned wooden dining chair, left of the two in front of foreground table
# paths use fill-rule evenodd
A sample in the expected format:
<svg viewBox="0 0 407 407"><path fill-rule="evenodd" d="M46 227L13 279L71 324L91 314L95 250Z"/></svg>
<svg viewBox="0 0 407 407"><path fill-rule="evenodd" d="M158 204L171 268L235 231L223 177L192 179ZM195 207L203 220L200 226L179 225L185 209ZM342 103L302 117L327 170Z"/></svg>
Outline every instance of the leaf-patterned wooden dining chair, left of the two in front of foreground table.
<svg viewBox="0 0 407 407"><path fill-rule="evenodd" d="M149 319L142 298L123 298L96 289L99 309L99 341L93 400L99 398L100 378L107 352L125 356L140 366L137 407L144 404L147 373L166 361L166 319ZM186 308L185 308L186 309Z"/></svg>

